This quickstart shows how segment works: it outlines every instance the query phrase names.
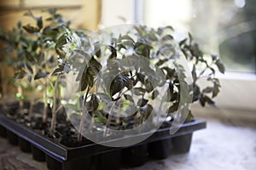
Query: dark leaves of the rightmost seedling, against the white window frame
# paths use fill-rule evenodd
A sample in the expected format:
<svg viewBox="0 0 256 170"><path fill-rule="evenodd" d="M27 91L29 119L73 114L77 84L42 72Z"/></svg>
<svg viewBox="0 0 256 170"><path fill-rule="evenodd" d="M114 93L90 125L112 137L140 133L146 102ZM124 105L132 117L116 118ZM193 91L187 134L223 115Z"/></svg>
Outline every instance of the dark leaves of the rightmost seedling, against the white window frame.
<svg viewBox="0 0 256 170"><path fill-rule="evenodd" d="M184 39L182 42L179 43L179 45L183 51L183 54L185 54L186 59L188 59L189 62L193 63L193 69L191 71L194 84L193 101L199 100L202 106L205 106L206 103L208 105L215 105L214 101L211 98L214 98L218 95L220 88L218 78L215 77L215 68L218 68L218 71L224 73L224 64L221 62L220 59L218 59L216 55L212 54L211 57L207 57L205 54L203 54L203 52L199 48L199 45L194 42L193 37L190 33L189 42L188 39ZM201 77L207 77L207 81L212 82L212 87L201 89L197 84L198 80L201 79ZM207 94L211 93L211 97L207 96Z"/></svg>

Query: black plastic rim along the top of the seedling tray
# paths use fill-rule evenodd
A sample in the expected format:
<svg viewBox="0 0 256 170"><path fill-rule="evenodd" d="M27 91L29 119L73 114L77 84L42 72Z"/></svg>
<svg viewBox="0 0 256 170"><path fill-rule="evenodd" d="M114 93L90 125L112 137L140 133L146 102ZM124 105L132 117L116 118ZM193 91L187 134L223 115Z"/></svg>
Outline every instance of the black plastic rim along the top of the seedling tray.
<svg viewBox="0 0 256 170"><path fill-rule="evenodd" d="M66 168L69 164L69 161L79 160L84 157L90 158L91 156L100 156L103 153L114 153L119 152L120 148L113 148L104 146L101 144L87 144L79 147L67 147L63 144L57 144L54 140L49 139L41 134L33 132L31 129L10 120L8 117L0 114L0 125L5 127L8 132L14 133L21 139L25 139L28 143L32 144L33 149L38 149L38 151L45 153L46 158L48 157L49 161L56 161L57 163L61 163L62 166L59 166L60 169L68 169ZM136 145L143 144L155 144L155 142L166 139L180 139L177 137L186 138L189 135L190 142L192 133L196 130L200 130L206 127L205 121L195 120L194 122L184 123L183 126L177 131L177 133L170 135L169 127L160 128L154 134L152 134L148 139ZM139 135L147 135L148 133L141 133ZM110 142L118 142L118 141L126 141L136 139L136 136L124 137L122 139L115 139ZM188 137L187 137L188 138ZM174 140L175 141L175 140ZM189 142L189 146L190 146ZM176 142L184 143L184 142ZM189 148L187 146L187 148ZM130 146L130 148L136 146ZM182 146L183 147L183 146ZM188 151L188 150L185 150ZM50 159L51 158L51 159ZM53 160L52 160L53 159ZM98 158L97 158L98 159ZM47 159L46 159L47 160ZM40 161L40 160L38 160ZM41 160L44 161L44 160ZM52 166L55 168L55 166ZM106 166L105 166L106 167ZM50 169L53 169L49 166ZM88 168L90 169L90 168ZM98 169L98 168L96 168Z"/></svg>

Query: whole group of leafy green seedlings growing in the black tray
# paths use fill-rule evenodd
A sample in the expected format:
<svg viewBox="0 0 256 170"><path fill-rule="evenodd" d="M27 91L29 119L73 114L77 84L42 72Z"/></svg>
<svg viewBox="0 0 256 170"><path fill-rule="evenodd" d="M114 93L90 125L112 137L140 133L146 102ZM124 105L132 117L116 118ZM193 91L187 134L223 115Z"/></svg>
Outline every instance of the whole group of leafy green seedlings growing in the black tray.
<svg viewBox="0 0 256 170"><path fill-rule="evenodd" d="M212 98L220 88L215 72L218 69L224 73L224 65L216 55L203 54L191 34L176 42L172 26L157 29L131 26L129 31L118 35L101 31L92 36L91 32L69 28L69 22L54 9L47 11L48 26L44 26L42 17L29 12L26 15L35 20L36 26L18 23L13 31L1 31L1 42L14 55L11 59L18 87L23 84L21 89L42 90L45 104L42 121L47 122L50 105L52 134L56 112L61 108L58 100L72 110L70 114L79 115L79 141L84 122L90 128L103 124L104 134L108 135L111 126L136 127L159 112L164 112L164 117L172 116L181 104L183 110L188 110L189 102L184 99L199 100L202 106L214 105ZM183 65L177 62L182 55L191 66L191 82L186 80ZM79 84L77 93L73 98L61 97L61 85L73 83L61 83L69 75ZM201 77L207 77L212 86L200 88L197 82ZM35 98L30 100L29 120ZM90 120L84 120L86 115ZM191 121L191 117L189 111L186 121Z"/></svg>

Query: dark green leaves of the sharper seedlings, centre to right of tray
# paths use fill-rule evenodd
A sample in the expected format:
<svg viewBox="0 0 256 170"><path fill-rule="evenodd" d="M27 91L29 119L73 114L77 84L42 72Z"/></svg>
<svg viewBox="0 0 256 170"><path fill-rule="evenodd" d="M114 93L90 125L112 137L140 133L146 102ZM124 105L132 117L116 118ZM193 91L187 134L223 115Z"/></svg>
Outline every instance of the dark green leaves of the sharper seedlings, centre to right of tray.
<svg viewBox="0 0 256 170"><path fill-rule="evenodd" d="M190 33L188 38L177 43L177 47L172 31L172 26L158 29L134 26L134 30L130 32L134 32L136 37L131 37L129 32L119 35L119 37L114 37L110 33L111 43L109 44L101 44L86 37L83 33L79 32L78 34L77 31L73 30L67 31L59 38L55 46L56 52L61 59L66 61L64 63L71 68L71 71L77 74L76 81L80 84L79 91L84 91L84 94L88 93L95 86L99 74L106 78L105 81L111 80L104 88L109 88L105 94L93 94L95 96L94 101L91 101L91 99L86 101L88 98L84 98L84 103L90 105L87 110L96 112L94 113L96 122L106 123L108 126L110 121L109 114L111 113L105 113L102 108L109 105L108 111L111 112L117 106L125 109L127 104L137 107L139 112L134 115L136 119L145 120L148 117L148 111L143 108L152 108L149 101L160 98L157 88L165 84L168 84L169 88L168 97L166 98L166 102L170 105L167 111L168 114L177 111L181 99L188 97L180 96L181 86L191 88L188 89L188 92L194 91L193 102L199 101L202 106L206 104L214 105L212 98L218 95L220 88L218 79L215 77L215 68L224 73L224 65L217 56L212 55L212 57L209 57L205 55ZM90 44L90 46L86 47L91 48L83 51L79 46L76 46L73 50L74 53L69 51L68 55L67 51L70 48L65 48L65 46L67 44L69 46L71 46L70 44L75 44L75 39L77 39L76 41L79 39L80 42ZM186 78L183 65L175 64L175 60L178 58L177 48L181 49L186 59L192 64L191 75L193 82L191 85L183 81ZM69 62L78 57L77 54L83 60L82 62L80 61L79 66L76 62L74 62L75 64ZM103 73L100 73L103 65L101 57L104 55L108 57L107 68ZM159 70L155 70L152 63ZM63 63L59 63L59 65L63 65ZM84 65L84 69L77 73L81 69L81 65L82 67ZM132 65L132 68L127 70L129 65ZM61 68L58 68L58 71L60 70ZM163 73L163 77L159 77L160 73ZM201 77L208 77L207 81L212 82L212 86L201 89L197 84ZM209 94L211 94L211 97L208 96ZM92 107L92 103L96 103L97 107ZM106 121L107 118L109 119L108 121ZM192 114L189 112L187 121L190 121L191 118Z"/></svg>

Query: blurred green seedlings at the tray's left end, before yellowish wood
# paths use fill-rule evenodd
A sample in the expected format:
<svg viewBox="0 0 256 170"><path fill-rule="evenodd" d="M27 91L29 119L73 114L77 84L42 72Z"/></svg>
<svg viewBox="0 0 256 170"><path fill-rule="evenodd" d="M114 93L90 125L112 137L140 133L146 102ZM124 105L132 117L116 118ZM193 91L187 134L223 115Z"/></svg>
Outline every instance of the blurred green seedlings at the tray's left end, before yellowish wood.
<svg viewBox="0 0 256 170"><path fill-rule="evenodd" d="M60 94L60 79L54 74L58 64L55 54L55 42L69 26L61 14L55 9L47 9L49 14L46 20L36 17L31 11L25 15L34 20L34 25L22 26L19 21L12 31L0 32L3 44L4 59L9 59L14 70L15 86L18 88L16 97L20 100L20 110L23 109L23 100L30 94L30 108L28 120L32 119L33 105L39 100L44 102L42 123L47 122L48 105L51 106L52 125L54 131L55 112L57 111L57 97ZM25 91L25 92L24 92ZM42 91L43 99L37 99L36 91Z"/></svg>

